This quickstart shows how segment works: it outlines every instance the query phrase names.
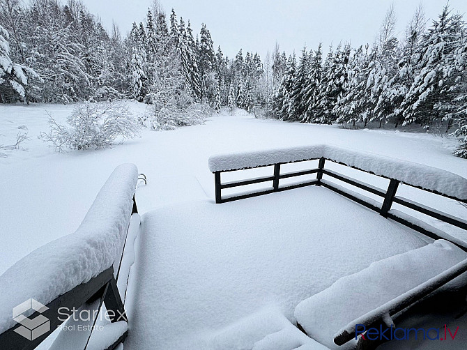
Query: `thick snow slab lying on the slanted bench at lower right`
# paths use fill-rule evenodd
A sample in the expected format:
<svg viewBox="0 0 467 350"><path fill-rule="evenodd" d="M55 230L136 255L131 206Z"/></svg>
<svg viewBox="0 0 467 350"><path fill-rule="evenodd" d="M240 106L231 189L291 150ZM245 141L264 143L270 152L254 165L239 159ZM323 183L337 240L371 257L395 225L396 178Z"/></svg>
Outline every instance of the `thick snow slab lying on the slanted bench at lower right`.
<svg viewBox="0 0 467 350"><path fill-rule="evenodd" d="M427 282L467 258L456 245L438 240L422 248L372 263L368 268L340 278L331 287L303 300L295 310L298 323L310 337L330 349L349 349L355 340L337 347L339 330L369 317L378 307ZM427 264L436 261L436 264ZM351 291L351 294L349 294ZM381 310L379 310L381 311ZM380 312L381 314L381 312ZM351 330L351 329L349 329Z"/></svg>

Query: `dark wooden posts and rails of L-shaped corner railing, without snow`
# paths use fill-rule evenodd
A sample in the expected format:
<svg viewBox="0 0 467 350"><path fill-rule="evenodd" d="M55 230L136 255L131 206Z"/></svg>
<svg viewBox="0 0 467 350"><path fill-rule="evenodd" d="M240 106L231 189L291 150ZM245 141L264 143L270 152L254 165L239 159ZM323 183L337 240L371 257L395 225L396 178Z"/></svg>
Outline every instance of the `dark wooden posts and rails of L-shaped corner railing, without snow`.
<svg viewBox="0 0 467 350"><path fill-rule="evenodd" d="M405 206L406 208L411 208L414 211L418 211L419 213L423 213L425 215L429 215L432 218L436 218L438 220L442 220L444 222L447 222L450 225L454 225L455 227L459 227L461 229L467 230L467 220L461 219L454 217L453 215L450 215L448 213L443 213L442 211L438 211L434 208L430 208L429 206L424 206L423 204L417 203L415 201L412 201L411 199L407 199L404 197L399 197L396 195L397 189L399 188L399 184L401 181L395 179L395 178L388 178L386 176L381 176L381 175L375 175L372 172L368 172L367 170L363 169L358 169L356 167L352 167L353 169L358 169L360 172L366 172L369 174L373 174L375 176L380 176L383 178L388 178L390 180L390 183L388 185L387 190L383 190L381 188L377 188L373 185L370 185L369 183L364 183L362 181L358 181L355 178L351 178L349 176L345 176L343 174L339 174L338 172L332 171L330 169L326 169L326 158L309 158L309 159L304 159L304 160L299 160L296 162L307 162L309 160L319 160L319 165L317 168L313 169L306 169L306 170L301 170L298 172L288 172L281 174L281 165L286 164L286 163L277 163L273 165L274 171L271 176L263 176L263 177L258 177L258 178L248 178L246 180L242 181L232 181L232 182L227 182L227 183L222 183L221 181L221 174L224 172L232 172L232 171L238 171L238 170L243 170L243 169L252 169L252 167L248 168L242 168L242 169L229 169L227 171L223 172L214 172L214 183L215 183L215 202L217 204L220 203L225 203L228 201L236 201L238 199L246 199L250 197L256 197L259 195L267 195L269 193L273 192L280 192L284 190L291 190L293 188L300 188L304 186L309 186L309 185L318 185L318 186L323 186L325 188L328 188L329 190L332 190L334 192L337 192L339 195L342 195L346 198L349 198L358 204L361 204L362 206L366 206L367 208L370 208L377 213L380 213L383 215L385 218L390 218L392 220L395 220L397 222L400 222L402 225L406 225L407 227L411 227L411 229L415 229L416 231L419 231L420 233L429 236L430 238L434 239L447 239L447 241L451 241L455 245L458 245L461 249L467 251L467 244L462 243L461 241L457 240L456 238L453 238L449 235L443 235L443 237L438 236L438 233L435 230L430 230L425 227L425 225L419 225L417 220L407 220L406 216L402 215L397 215L395 211L391 211L392 204L397 203L400 204L401 206ZM332 161L333 160L328 160ZM295 163L295 162L293 162ZM349 165L346 165L342 162L336 162L340 165L345 165L349 167ZM259 167L270 167L271 165L261 165ZM303 175L308 175L308 174L314 174L316 173L316 178L312 180L307 180L303 181L300 183L294 183L293 185L284 185L280 186L280 181L284 178L293 178L296 176L303 176ZM326 181L326 179L323 179L323 175L330 176L332 178L336 178L339 181L343 181L344 183L348 183L349 185L353 185L356 188L360 188L361 190L365 190L369 193L372 193L373 195L377 195L379 197L383 198L383 204L381 206L377 206L372 199L365 195L356 195L355 193L352 193L352 191L343 188L335 183L332 183L331 181ZM266 190L258 190L254 192L248 192L245 194L241 195L232 195L229 197L223 197L222 196L222 190L226 188L236 188L239 186L243 185L251 185L254 183L266 183L270 182L272 184L272 187ZM410 184L407 184L410 185ZM415 185L410 185L415 188L420 188ZM429 190L426 188L420 188L421 190L427 191L434 193L436 195L440 195L443 197L447 197L450 199L455 199L457 201L466 203L467 201L465 199L459 199L454 196L448 196L448 195L442 195L439 192L435 190Z"/></svg>

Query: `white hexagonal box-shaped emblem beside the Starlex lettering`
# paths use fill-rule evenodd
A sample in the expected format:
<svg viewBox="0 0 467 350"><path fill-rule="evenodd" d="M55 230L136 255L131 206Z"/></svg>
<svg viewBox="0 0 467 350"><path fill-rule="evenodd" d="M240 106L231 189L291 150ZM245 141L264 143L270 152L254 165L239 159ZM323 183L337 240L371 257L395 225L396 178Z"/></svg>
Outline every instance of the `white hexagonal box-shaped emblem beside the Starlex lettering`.
<svg viewBox="0 0 467 350"><path fill-rule="evenodd" d="M24 316L24 312L29 310L35 310L40 314L33 319ZM44 335L50 330L50 320L47 319L42 313L49 308L38 300L29 299L13 307L13 319L20 324L19 327L15 328L15 332L22 335L27 340L35 340L36 338Z"/></svg>

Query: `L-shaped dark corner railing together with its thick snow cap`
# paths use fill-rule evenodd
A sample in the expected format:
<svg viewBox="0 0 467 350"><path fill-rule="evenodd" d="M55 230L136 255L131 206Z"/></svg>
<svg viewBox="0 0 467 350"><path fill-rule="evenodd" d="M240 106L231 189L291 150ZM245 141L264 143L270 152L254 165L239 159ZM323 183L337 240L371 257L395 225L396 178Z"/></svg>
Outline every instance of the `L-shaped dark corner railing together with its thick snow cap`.
<svg viewBox="0 0 467 350"><path fill-rule="evenodd" d="M319 160L318 167L315 169L301 170L299 172L281 173L281 165L291 162L304 162L307 160ZM340 165L346 165L362 172L388 178L390 179L388 189L383 190L355 178L326 169L326 160L339 163ZM399 211L391 210L393 203L401 204L407 208L411 208L420 213L424 213L425 215L447 222L450 225L467 230L467 220L464 220L463 218L454 217L448 213L443 213L434 208L412 201L411 199L396 195L399 184L404 183L427 192L432 192L436 195L441 195L443 197L456 199L457 201L466 203L467 179L443 169L385 157L374 153L354 151L323 144L268 151L213 155L209 158L208 165L210 172L214 173L216 203L224 203L237 199L266 195L272 192L279 192L307 185L322 185L325 188L339 193L339 195L343 195L344 197L352 199L367 208L381 213L385 218L390 218L400 222L403 225L420 231L422 234L425 234L430 238L445 238L448 241L459 245L462 249L467 250L466 243L459 241L440 230L434 229L434 227L424 225L424 222L416 220L410 215L405 215ZM270 176L247 178L243 181L227 183L222 183L221 181L221 174L223 172L268 167L271 165L274 166L274 170L273 174L270 174ZM316 173L315 179L294 183L293 185L280 185L280 181L284 178L293 178L314 173ZM323 178L323 175L329 176L330 178L337 178L337 180L353 185L360 190L365 190L373 195L382 197L383 203L379 204L377 201L374 201L374 199L370 199L361 193L353 192L347 188L337 185L337 183L328 181L327 178ZM270 182L272 186L265 190L259 190L256 192L246 192L241 195L233 195L229 197L222 196L223 189L265 182Z"/></svg>

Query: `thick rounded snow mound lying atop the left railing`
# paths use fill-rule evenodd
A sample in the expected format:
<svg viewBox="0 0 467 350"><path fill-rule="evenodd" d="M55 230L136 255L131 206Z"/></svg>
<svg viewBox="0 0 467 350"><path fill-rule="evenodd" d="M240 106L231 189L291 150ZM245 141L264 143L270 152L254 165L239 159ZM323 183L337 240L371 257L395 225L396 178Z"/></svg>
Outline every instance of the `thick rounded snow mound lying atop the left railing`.
<svg viewBox="0 0 467 350"><path fill-rule="evenodd" d="M75 233L34 250L0 276L0 333L14 326L11 312L24 300L47 305L114 264L128 229L137 177L135 165L116 167Z"/></svg>

